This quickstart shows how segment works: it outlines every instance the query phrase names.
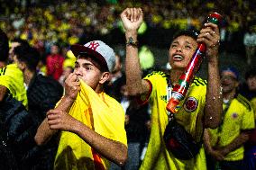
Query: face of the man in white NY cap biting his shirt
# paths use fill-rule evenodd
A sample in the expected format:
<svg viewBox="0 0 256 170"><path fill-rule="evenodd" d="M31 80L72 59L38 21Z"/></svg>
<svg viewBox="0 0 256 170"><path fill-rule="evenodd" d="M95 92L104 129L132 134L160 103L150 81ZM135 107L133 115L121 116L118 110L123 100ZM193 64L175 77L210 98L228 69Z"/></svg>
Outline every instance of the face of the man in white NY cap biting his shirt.
<svg viewBox="0 0 256 170"><path fill-rule="evenodd" d="M86 58L78 58L74 73L94 90L103 77L103 73Z"/></svg>

